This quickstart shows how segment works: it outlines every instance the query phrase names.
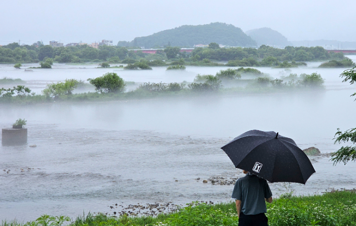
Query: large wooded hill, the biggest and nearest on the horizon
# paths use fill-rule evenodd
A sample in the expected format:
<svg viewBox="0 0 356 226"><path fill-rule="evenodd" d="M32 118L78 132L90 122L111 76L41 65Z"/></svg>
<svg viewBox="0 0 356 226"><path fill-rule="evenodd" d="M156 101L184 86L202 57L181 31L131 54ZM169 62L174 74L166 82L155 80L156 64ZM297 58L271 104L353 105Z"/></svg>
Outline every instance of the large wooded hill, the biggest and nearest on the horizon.
<svg viewBox="0 0 356 226"><path fill-rule="evenodd" d="M217 42L229 46L257 46L256 41L246 35L241 28L232 24L214 22L204 25L183 25L157 33L135 37L132 41L119 41L119 46L160 46L193 47L195 44Z"/></svg>

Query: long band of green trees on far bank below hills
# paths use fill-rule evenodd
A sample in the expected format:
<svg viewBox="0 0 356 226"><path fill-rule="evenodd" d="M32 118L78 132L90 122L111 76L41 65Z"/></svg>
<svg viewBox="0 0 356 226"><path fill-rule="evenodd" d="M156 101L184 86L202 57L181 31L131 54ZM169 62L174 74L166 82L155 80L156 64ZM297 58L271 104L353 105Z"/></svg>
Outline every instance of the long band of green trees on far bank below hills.
<svg viewBox="0 0 356 226"><path fill-rule="evenodd" d="M261 45L259 48L231 47L221 48L217 43L208 47L198 47L193 52L181 52L180 47L167 46L155 54L134 52L127 47L103 45L93 48L86 44L68 47L50 45L19 45L14 42L0 46L0 62L39 62L51 58L56 62L104 62L133 63L132 59L167 60L185 58L186 61L219 60L229 61L228 66L278 66L281 61L312 61L343 59L342 52L328 53L323 47L275 48Z"/></svg>

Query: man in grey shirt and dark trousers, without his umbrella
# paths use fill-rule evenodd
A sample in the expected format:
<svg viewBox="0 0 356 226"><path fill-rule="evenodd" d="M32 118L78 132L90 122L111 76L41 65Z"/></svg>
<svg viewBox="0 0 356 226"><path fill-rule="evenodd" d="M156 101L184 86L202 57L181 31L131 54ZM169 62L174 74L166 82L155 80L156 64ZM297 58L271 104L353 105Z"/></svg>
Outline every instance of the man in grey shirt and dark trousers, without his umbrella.
<svg viewBox="0 0 356 226"><path fill-rule="evenodd" d="M246 176L239 178L232 198L236 199L239 226L268 226L265 201L272 202L272 192L267 180L244 170Z"/></svg>

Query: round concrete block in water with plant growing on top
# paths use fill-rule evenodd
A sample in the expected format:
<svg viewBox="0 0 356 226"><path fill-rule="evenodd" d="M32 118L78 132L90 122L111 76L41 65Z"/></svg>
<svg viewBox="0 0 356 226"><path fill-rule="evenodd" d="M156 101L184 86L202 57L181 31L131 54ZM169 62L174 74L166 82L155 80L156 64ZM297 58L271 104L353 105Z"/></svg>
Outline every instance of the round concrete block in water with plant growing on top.
<svg viewBox="0 0 356 226"><path fill-rule="evenodd" d="M3 128L4 146L24 145L27 143L27 128Z"/></svg>

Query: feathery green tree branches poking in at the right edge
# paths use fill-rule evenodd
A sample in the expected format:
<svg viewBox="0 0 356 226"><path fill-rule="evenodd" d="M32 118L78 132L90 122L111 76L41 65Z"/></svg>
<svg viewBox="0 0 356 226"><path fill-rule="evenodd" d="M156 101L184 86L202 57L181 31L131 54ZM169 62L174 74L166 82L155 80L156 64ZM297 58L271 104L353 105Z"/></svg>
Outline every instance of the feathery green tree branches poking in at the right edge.
<svg viewBox="0 0 356 226"><path fill-rule="evenodd" d="M341 74L340 77L343 78L342 82L349 81L350 84L353 84L356 82L356 66L344 70ZM356 95L356 92L353 93L351 96ZM331 154L331 160L334 162L334 164L337 164L339 162L343 162L346 164L348 161L356 160L356 128L351 128L346 130L345 132L342 132L339 128L337 128L337 132L335 133L335 143L341 143L341 142L352 142L352 145L347 145L347 146L341 146L340 149L338 149L336 152L333 152Z"/></svg>

